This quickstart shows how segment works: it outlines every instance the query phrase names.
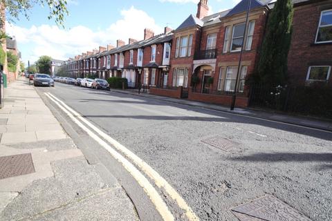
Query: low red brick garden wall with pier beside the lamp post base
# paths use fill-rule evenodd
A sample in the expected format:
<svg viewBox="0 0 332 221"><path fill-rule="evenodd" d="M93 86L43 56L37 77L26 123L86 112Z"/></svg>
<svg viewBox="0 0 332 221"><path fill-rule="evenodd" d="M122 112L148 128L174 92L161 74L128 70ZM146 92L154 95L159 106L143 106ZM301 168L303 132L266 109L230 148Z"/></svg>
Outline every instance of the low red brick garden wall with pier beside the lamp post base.
<svg viewBox="0 0 332 221"><path fill-rule="evenodd" d="M211 104L221 104L223 106L230 106L230 104L232 104L231 95L208 95L201 93L193 93L191 88L189 88L188 90L188 99ZM237 96L235 106L239 108L248 107L248 97Z"/></svg>

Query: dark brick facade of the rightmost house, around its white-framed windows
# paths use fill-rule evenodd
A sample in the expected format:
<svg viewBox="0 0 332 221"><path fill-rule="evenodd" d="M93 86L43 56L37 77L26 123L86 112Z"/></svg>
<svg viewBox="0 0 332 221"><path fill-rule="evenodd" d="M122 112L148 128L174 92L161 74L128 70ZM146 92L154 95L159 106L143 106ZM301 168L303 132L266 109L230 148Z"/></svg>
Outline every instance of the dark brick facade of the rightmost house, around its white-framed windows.
<svg viewBox="0 0 332 221"><path fill-rule="evenodd" d="M304 85L309 66L332 66L332 44L315 44L322 10L332 9L331 1L320 1L294 8L293 36L288 54L291 84ZM332 86L332 75L329 85Z"/></svg>

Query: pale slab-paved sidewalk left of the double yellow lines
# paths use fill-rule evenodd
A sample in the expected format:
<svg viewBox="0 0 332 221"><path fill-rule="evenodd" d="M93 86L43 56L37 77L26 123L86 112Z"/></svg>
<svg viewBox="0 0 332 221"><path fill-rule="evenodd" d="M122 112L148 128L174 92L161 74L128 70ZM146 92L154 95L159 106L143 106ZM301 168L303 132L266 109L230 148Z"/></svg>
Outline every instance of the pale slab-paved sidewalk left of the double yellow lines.
<svg viewBox="0 0 332 221"><path fill-rule="evenodd" d="M0 220L138 220L116 179L104 181L26 79L0 109Z"/></svg>

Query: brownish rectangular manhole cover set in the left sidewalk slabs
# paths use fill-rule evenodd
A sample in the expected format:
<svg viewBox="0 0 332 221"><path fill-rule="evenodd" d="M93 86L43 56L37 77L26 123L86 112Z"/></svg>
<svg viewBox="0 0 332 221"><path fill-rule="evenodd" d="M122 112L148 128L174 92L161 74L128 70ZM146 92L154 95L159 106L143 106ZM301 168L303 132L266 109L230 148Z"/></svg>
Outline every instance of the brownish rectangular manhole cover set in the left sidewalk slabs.
<svg viewBox="0 0 332 221"><path fill-rule="evenodd" d="M30 153L0 157L0 180L35 173Z"/></svg>

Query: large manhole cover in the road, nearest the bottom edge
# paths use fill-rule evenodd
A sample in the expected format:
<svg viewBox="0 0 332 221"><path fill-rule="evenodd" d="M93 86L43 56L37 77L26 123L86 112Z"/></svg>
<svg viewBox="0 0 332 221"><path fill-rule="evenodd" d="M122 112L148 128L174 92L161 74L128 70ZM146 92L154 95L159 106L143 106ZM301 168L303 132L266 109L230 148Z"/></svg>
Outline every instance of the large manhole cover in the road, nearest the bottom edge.
<svg viewBox="0 0 332 221"><path fill-rule="evenodd" d="M311 221L273 195L237 206L232 212L241 221Z"/></svg>

